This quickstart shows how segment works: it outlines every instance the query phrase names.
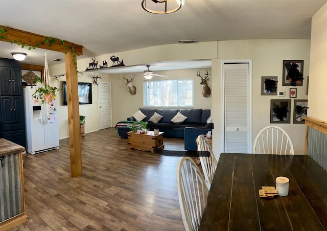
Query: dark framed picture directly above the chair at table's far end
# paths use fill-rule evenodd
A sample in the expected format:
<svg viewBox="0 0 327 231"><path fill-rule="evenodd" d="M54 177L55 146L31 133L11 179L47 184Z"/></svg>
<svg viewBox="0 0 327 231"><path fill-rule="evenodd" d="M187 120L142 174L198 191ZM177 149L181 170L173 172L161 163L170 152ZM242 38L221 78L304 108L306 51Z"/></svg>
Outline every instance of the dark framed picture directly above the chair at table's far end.
<svg viewBox="0 0 327 231"><path fill-rule="evenodd" d="M270 123L291 123L291 100L270 100Z"/></svg>

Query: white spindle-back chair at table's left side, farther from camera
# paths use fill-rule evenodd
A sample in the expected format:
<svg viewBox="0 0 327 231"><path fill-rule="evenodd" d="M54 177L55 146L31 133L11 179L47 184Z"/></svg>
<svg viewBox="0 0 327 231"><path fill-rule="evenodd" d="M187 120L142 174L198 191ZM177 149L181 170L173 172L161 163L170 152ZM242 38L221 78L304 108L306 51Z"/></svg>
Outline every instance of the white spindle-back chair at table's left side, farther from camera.
<svg viewBox="0 0 327 231"><path fill-rule="evenodd" d="M217 168L217 160L207 138L204 135L199 135L196 141L204 179L210 190Z"/></svg>

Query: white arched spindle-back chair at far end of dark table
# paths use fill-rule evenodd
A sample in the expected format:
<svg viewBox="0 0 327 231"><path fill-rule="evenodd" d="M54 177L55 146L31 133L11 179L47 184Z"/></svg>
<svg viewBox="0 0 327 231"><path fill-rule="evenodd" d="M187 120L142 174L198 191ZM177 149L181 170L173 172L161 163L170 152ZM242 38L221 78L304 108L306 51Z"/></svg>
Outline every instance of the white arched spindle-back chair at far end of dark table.
<svg viewBox="0 0 327 231"><path fill-rule="evenodd" d="M267 126L256 135L252 153L293 155L294 148L290 136L277 126Z"/></svg>

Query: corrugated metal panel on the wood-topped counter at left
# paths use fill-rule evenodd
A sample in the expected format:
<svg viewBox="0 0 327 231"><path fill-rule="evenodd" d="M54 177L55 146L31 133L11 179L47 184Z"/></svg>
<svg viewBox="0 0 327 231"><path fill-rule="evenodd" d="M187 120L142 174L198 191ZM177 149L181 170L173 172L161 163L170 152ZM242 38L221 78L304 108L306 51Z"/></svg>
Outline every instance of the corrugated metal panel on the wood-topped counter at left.
<svg viewBox="0 0 327 231"><path fill-rule="evenodd" d="M7 155L0 166L0 222L21 214L19 153Z"/></svg>

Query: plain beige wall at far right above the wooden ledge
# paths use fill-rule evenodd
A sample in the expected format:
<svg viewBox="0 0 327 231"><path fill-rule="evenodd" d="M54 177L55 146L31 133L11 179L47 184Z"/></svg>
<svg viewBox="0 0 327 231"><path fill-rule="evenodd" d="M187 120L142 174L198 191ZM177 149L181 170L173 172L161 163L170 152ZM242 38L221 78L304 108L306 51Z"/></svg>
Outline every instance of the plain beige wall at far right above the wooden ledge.
<svg viewBox="0 0 327 231"><path fill-rule="evenodd" d="M308 116L327 122L327 3L312 17Z"/></svg>

